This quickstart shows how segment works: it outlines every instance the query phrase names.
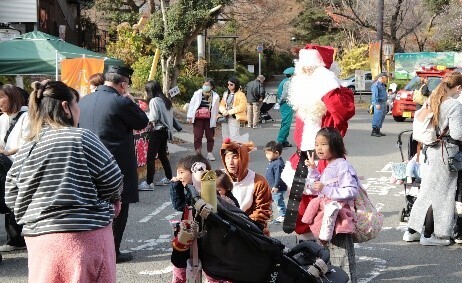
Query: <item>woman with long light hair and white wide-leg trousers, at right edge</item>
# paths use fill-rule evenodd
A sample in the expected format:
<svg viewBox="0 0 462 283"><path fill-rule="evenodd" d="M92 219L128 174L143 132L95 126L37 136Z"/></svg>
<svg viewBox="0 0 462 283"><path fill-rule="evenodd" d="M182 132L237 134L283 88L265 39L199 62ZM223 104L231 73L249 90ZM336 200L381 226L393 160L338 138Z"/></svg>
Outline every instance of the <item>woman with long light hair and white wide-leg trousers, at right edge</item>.
<svg viewBox="0 0 462 283"><path fill-rule="evenodd" d="M453 235L457 172L448 168L448 158L459 151L462 141L462 105L457 101L462 88L462 75L445 78L428 98L433 112L432 124L441 142L424 147L425 163L421 166L422 182L419 197L409 218L409 229L403 235L406 242L419 241L421 245L449 245ZM425 104L424 104L425 106ZM422 227L423 234L420 235Z"/></svg>

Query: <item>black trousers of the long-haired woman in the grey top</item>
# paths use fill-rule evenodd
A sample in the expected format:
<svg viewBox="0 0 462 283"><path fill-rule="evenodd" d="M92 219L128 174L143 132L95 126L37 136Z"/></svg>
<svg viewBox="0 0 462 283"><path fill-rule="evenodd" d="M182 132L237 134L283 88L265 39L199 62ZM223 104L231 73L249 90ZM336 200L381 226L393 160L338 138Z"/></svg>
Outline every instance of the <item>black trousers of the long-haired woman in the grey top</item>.
<svg viewBox="0 0 462 283"><path fill-rule="evenodd" d="M167 141L168 141L168 131L166 128L152 131L149 136L148 144L148 156L146 160L146 183L152 184L154 180L154 174L156 173L155 160L156 155L158 156L162 167L164 167L165 177L167 179L172 179L172 167L170 166L170 161L167 156Z"/></svg>

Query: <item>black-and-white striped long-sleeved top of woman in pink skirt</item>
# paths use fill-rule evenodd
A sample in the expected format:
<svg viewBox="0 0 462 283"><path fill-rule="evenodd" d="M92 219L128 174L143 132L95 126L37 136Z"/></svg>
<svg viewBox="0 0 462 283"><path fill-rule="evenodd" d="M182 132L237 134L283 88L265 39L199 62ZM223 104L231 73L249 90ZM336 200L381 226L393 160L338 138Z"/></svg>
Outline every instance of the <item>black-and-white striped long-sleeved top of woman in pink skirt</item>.
<svg viewBox="0 0 462 283"><path fill-rule="evenodd" d="M27 142L17 152L5 202L24 225L24 236L95 230L114 218L111 202L120 198L122 178L92 132L46 127L37 143Z"/></svg>

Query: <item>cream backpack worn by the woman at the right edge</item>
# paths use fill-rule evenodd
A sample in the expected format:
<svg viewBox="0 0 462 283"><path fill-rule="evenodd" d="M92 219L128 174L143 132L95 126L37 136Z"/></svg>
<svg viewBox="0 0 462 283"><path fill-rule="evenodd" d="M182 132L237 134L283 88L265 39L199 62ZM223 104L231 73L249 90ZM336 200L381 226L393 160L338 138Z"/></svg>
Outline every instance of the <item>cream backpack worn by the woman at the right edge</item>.
<svg viewBox="0 0 462 283"><path fill-rule="evenodd" d="M422 108L414 113L412 122L412 138L422 144L430 145L438 140L436 128L432 124L433 112L425 102Z"/></svg>

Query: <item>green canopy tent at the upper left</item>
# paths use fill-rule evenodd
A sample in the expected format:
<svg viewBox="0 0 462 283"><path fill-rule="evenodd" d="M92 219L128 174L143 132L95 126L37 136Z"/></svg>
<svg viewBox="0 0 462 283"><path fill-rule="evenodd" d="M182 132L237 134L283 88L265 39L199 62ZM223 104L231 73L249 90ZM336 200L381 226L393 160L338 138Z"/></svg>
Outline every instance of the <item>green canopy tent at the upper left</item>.
<svg viewBox="0 0 462 283"><path fill-rule="evenodd" d="M8 41L0 42L0 75L56 75L59 62L70 58L97 58L104 60L104 66L125 65L123 61L106 57L58 37L33 31Z"/></svg>

